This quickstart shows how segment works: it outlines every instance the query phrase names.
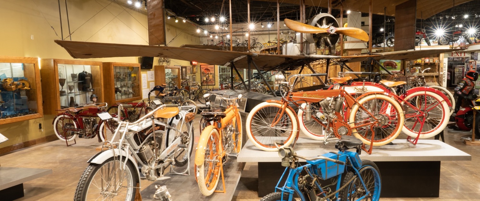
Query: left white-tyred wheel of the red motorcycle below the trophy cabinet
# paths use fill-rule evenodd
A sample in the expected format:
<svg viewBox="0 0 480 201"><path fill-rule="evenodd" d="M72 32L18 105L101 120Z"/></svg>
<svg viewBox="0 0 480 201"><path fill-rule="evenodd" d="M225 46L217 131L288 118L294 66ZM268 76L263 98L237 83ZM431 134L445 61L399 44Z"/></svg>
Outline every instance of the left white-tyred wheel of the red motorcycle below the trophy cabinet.
<svg viewBox="0 0 480 201"><path fill-rule="evenodd" d="M77 127L77 123L73 121L69 116L67 115L59 115L55 118L55 121L53 122L53 125L55 126L53 128L53 131L55 132L55 135L60 140L67 140L67 142L73 141L78 134L75 134L74 130Z"/></svg>

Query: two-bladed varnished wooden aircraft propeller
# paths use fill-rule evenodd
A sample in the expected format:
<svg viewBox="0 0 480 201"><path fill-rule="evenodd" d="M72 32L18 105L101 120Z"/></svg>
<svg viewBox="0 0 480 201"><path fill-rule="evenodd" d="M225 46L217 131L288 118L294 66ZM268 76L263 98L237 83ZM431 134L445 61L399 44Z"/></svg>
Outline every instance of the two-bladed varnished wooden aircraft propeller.
<svg viewBox="0 0 480 201"><path fill-rule="evenodd" d="M300 32L300 33L330 33L330 34L339 33L339 34L350 36L352 38L360 39L362 41L368 41L368 34L365 31L355 27L337 28L337 27L331 26L328 28L320 28L320 27L304 24L301 22L289 20L289 19L285 19L285 25L287 25L289 29L295 32Z"/></svg>

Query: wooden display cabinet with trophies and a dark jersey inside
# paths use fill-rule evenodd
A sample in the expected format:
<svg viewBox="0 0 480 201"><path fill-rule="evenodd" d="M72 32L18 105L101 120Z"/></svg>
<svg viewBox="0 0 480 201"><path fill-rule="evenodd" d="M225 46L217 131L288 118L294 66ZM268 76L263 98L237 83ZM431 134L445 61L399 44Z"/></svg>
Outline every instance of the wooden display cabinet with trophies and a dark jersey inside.
<svg viewBox="0 0 480 201"><path fill-rule="evenodd" d="M42 59L40 65L43 96L48 100L43 103L45 114L56 115L73 103L91 103L92 94L97 96L97 103L104 101L102 62Z"/></svg>

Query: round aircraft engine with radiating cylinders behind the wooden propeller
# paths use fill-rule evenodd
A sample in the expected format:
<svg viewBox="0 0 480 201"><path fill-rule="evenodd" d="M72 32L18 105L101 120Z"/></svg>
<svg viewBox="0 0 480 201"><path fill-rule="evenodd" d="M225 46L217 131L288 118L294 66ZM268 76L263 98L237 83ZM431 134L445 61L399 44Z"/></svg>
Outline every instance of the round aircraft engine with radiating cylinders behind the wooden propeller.
<svg viewBox="0 0 480 201"><path fill-rule="evenodd" d="M320 27L323 29L329 28L331 26L338 28L338 22L335 17L327 13L321 13L310 18L309 25ZM326 47L331 47L336 44L338 41L339 35L334 33L317 33L317 34L307 34L307 41L309 43L315 43L317 47L322 45Z"/></svg>

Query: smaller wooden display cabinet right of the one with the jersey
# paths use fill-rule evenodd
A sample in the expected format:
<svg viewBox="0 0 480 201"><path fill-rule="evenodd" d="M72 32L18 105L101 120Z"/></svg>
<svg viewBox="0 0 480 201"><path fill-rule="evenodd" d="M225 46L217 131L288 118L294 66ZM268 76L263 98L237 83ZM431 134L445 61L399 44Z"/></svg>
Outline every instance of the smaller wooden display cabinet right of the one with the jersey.
<svg viewBox="0 0 480 201"><path fill-rule="evenodd" d="M140 64L104 62L103 75L108 105L142 99Z"/></svg>

